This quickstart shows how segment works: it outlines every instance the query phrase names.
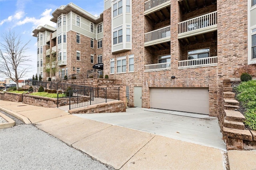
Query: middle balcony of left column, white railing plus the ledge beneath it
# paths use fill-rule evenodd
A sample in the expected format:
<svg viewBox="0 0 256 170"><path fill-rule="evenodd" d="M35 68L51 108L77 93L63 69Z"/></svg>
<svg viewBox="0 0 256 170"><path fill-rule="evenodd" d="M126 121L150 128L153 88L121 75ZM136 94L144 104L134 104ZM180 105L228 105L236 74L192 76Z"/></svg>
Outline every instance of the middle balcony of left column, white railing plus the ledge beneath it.
<svg viewBox="0 0 256 170"><path fill-rule="evenodd" d="M159 43L164 43L164 42L170 42L170 29L171 26L166 26L164 28L160 28L151 32L145 33L145 42L144 46L150 46L150 45L155 45Z"/></svg>

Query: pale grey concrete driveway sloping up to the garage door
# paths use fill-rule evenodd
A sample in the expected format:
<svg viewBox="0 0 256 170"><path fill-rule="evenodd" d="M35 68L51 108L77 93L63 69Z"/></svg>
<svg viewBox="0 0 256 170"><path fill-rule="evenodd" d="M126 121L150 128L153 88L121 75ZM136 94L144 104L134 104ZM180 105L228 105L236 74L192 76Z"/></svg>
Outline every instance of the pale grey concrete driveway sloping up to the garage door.
<svg viewBox="0 0 256 170"><path fill-rule="evenodd" d="M159 111L159 112L158 112ZM164 112L164 113L161 113ZM157 109L127 108L125 113L74 114L94 121L132 128L168 138L226 150L218 124L218 118L202 115L203 118L184 116L183 112ZM180 115L182 116L180 116ZM188 116L191 114L188 113ZM193 115L193 114L192 114ZM200 117L200 115L199 115Z"/></svg>

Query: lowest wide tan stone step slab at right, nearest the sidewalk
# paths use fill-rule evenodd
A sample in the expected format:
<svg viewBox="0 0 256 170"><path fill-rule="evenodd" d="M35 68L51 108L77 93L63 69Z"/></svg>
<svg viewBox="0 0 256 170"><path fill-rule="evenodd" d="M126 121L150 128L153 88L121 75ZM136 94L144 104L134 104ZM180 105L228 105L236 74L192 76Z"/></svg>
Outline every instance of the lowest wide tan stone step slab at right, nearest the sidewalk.
<svg viewBox="0 0 256 170"><path fill-rule="evenodd" d="M238 139L252 141L252 134L250 130L241 130L241 129L223 127L223 135L231 138L238 138Z"/></svg>

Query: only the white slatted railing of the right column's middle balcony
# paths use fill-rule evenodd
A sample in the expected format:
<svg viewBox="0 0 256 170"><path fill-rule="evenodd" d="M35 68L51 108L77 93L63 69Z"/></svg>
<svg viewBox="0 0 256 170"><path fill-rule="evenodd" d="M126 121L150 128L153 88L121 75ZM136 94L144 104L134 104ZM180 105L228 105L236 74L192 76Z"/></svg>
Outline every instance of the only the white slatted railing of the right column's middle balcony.
<svg viewBox="0 0 256 170"><path fill-rule="evenodd" d="M178 23L178 34L217 24L217 11Z"/></svg>

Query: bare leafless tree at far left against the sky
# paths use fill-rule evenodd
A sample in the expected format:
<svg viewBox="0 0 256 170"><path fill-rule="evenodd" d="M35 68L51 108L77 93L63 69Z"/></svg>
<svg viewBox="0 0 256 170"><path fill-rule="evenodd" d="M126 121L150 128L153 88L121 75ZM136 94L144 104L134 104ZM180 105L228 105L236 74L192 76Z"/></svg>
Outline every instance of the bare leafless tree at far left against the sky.
<svg viewBox="0 0 256 170"><path fill-rule="evenodd" d="M29 41L30 42L30 41ZM30 71L30 56L26 55L28 43L22 43L20 36L15 32L6 32L0 43L0 73L16 83L19 88L18 80Z"/></svg>

